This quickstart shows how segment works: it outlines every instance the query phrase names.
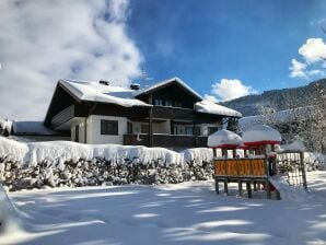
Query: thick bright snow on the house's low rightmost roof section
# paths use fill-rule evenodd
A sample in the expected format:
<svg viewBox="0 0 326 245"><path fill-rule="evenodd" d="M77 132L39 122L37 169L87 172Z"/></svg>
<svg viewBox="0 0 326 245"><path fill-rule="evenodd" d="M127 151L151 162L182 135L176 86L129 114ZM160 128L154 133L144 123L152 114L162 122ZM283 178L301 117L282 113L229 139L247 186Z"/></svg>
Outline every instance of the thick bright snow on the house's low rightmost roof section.
<svg viewBox="0 0 326 245"><path fill-rule="evenodd" d="M198 113L217 114L230 117L242 117L242 114L235 109L230 109L210 101L201 101L195 104L195 110Z"/></svg>

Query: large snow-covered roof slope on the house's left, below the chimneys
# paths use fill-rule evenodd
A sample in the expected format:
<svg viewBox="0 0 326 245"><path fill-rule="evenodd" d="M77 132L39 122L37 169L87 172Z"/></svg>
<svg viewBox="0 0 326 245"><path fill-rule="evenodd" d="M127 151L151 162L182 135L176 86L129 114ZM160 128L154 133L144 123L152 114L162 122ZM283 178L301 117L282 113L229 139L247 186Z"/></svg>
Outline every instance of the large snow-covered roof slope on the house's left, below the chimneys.
<svg viewBox="0 0 326 245"><path fill-rule="evenodd" d="M121 86L73 80L59 80L59 84L67 89L79 101L112 103L124 107L150 106L149 104L135 98L133 90Z"/></svg>

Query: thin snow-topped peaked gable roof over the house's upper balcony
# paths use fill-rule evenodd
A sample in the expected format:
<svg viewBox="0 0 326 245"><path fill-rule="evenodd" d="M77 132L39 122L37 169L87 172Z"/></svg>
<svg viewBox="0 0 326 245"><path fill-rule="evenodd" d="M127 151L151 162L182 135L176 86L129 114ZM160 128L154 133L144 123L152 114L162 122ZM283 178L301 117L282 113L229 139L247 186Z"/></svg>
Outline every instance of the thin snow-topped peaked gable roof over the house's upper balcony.
<svg viewBox="0 0 326 245"><path fill-rule="evenodd" d="M197 100L199 100L199 101L202 100L202 97L195 90L193 90L190 86L188 86L179 78L172 78L172 79L168 79L168 80L164 80L162 82L158 82L158 83L155 83L153 85L150 85L148 88L143 88L143 89L141 89L141 90L139 90L135 93L135 97L139 97L139 96L144 95L144 94L151 94L155 91L159 91L159 90L162 90L166 86L170 86L171 84L178 84L183 89L185 89L187 92L189 92L193 96L195 96Z"/></svg>

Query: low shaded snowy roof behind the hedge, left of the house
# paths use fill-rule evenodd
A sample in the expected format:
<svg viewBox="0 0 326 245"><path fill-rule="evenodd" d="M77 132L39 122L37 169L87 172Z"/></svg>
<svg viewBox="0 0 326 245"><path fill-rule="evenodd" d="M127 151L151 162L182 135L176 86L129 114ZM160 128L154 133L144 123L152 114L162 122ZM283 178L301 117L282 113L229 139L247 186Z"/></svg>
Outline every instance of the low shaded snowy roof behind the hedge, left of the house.
<svg viewBox="0 0 326 245"><path fill-rule="evenodd" d="M14 120L12 122L12 133L16 136L53 136L57 132L44 126L44 121L36 120Z"/></svg>

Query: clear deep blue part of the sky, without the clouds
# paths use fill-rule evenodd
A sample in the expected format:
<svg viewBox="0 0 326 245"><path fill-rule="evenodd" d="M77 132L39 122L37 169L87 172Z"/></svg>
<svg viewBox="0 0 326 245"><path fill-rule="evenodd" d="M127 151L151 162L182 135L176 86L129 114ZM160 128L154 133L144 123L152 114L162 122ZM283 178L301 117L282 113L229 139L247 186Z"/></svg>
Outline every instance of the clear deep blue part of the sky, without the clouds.
<svg viewBox="0 0 326 245"><path fill-rule="evenodd" d="M263 92L325 77L290 78L289 67L308 38L325 39L326 1L140 0L130 8L129 32L154 80L177 75L207 94L221 79Z"/></svg>

